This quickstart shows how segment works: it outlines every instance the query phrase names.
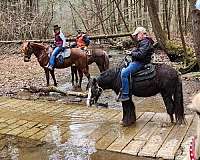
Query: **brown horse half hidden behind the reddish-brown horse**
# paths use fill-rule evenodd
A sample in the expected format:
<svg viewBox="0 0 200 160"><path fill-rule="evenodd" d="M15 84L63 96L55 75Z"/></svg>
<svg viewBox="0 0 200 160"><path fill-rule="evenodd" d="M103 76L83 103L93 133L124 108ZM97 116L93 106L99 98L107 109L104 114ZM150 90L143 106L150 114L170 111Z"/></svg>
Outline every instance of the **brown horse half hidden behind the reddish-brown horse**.
<svg viewBox="0 0 200 160"><path fill-rule="evenodd" d="M103 72L109 69L109 55L106 51L102 49L90 49L88 53L84 53L88 57L88 64L96 63L100 72ZM71 67L71 75L72 75L72 85L74 85L74 75L76 77L76 83L78 83L78 75L77 75L77 67ZM81 77L80 77L81 79Z"/></svg>

